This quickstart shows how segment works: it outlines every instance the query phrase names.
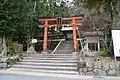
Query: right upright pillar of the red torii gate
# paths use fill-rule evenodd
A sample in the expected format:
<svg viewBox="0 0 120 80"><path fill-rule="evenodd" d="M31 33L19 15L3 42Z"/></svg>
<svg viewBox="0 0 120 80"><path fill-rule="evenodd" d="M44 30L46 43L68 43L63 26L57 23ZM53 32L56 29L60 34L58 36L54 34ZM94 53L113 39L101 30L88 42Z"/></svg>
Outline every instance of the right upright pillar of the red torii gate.
<svg viewBox="0 0 120 80"><path fill-rule="evenodd" d="M72 28L73 28L73 44L74 44L74 51L77 50L77 38L76 38L76 24L75 24L75 18L72 18Z"/></svg>

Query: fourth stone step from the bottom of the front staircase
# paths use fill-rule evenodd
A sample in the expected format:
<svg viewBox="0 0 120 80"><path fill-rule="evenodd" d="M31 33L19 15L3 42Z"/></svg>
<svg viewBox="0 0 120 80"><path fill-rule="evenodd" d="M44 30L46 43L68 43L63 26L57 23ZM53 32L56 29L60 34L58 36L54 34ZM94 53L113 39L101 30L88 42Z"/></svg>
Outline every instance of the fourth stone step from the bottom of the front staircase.
<svg viewBox="0 0 120 80"><path fill-rule="evenodd" d="M22 62L44 62L44 63L77 63L77 60L27 60L27 59L23 59L21 60Z"/></svg>

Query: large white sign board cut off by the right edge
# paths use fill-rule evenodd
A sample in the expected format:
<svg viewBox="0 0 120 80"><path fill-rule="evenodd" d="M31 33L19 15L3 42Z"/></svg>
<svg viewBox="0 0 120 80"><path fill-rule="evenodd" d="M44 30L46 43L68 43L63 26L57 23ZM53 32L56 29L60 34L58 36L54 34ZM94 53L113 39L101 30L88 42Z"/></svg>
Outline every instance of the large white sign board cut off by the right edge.
<svg viewBox="0 0 120 80"><path fill-rule="evenodd" d="M115 57L120 57L120 30L112 30Z"/></svg>

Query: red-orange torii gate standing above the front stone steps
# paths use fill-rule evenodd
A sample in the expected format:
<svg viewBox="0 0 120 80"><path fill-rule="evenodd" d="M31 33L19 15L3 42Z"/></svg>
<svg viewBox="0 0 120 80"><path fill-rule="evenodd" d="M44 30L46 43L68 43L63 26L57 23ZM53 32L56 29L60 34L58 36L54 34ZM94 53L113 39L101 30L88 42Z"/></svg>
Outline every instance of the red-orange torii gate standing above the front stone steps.
<svg viewBox="0 0 120 80"><path fill-rule="evenodd" d="M72 24L61 24L63 25L69 25L72 26L73 28L73 44L74 44L74 51L77 51L77 37L76 37L76 25L81 25L77 24L76 20L82 20L83 17L70 17L70 18L61 18L62 21L72 21ZM47 49L47 36L48 36L48 27L49 27L49 22L50 21L57 21L57 18L48 18L48 19L38 19L39 22L45 22L42 27L44 27L44 41L43 41L43 50L46 52Z"/></svg>

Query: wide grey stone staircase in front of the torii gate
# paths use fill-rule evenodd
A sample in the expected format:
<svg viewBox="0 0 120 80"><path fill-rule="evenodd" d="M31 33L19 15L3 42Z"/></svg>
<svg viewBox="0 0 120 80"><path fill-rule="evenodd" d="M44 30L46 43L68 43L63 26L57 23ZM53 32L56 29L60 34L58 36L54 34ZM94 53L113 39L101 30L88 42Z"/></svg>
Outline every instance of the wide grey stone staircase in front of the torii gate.
<svg viewBox="0 0 120 80"><path fill-rule="evenodd" d="M7 71L77 75L77 58L72 54L24 54Z"/></svg>

